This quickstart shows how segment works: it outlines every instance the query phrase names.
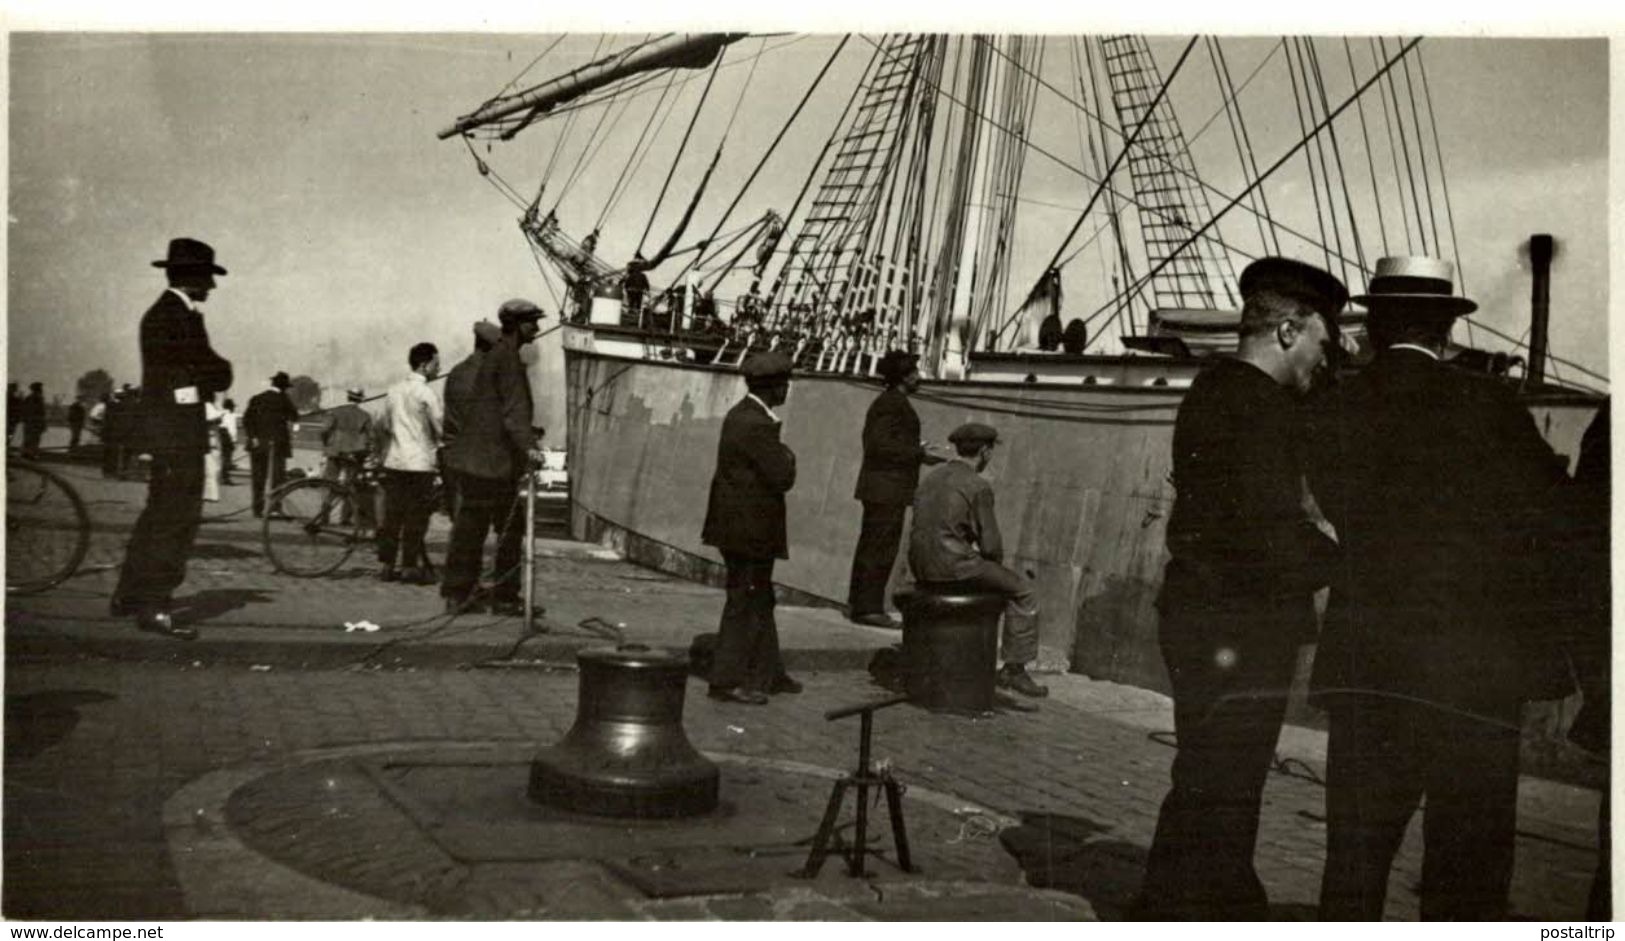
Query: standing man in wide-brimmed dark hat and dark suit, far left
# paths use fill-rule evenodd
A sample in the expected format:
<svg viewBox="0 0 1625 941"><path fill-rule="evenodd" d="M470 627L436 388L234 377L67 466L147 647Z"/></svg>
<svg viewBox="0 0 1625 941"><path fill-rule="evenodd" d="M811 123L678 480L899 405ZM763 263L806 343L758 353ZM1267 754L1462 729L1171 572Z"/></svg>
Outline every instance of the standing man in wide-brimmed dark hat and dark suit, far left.
<svg viewBox="0 0 1625 941"><path fill-rule="evenodd" d="M197 631L174 622L169 598L187 577L203 512L203 398L231 387L231 362L210 348L197 304L226 268L214 263L214 249L193 239L171 241L169 257L153 265L166 270L169 289L141 317L141 413L132 434L132 447L151 453L153 466L112 613L135 614L141 631L190 640Z"/></svg>

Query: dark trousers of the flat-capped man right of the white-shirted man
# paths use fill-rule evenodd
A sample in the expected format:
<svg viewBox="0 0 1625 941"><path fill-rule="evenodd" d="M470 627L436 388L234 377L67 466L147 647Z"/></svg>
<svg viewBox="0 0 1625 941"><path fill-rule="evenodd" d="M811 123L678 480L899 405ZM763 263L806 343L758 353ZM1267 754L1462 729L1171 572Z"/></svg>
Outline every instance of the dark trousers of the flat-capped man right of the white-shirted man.
<svg viewBox="0 0 1625 941"><path fill-rule="evenodd" d="M520 554L525 543L523 507L517 504L518 483L452 475L457 515L452 520L452 548L445 554L440 595L468 598L479 585L479 559L486 533L497 533L496 579L491 595L499 601L518 600ZM520 512L515 512L518 509Z"/></svg>

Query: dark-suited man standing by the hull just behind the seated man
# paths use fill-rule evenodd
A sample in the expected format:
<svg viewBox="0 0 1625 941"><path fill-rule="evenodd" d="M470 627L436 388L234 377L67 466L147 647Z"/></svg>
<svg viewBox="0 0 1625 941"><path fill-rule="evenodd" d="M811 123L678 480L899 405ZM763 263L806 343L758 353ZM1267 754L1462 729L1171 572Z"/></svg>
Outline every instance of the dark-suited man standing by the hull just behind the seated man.
<svg viewBox="0 0 1625 941"><path fill-rule="evenodd" d="M920 465L941 463L920 440L920 416L908 395L920 388L918 356L892 349L881 358L886 392L869 405L863 419L863 470L858 489L863 501L863 528L852 554L852 583L847 618L873 627L895 627L886 614L886 583L904 538L904 517L920 486Z"/></svg>

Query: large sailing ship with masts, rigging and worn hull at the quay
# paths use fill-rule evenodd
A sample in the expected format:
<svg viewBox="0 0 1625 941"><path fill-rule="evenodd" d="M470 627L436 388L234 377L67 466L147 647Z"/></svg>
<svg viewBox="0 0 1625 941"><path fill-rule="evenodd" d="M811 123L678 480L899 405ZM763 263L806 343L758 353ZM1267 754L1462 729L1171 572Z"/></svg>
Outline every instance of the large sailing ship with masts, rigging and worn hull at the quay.
<svg viewBox="0 0 1625 941"><path fill-rule="evenodd" d="M1008 562L1040 587L1040 665L1165 687L1172 424L1237 346L1238 268L1284 254L1362 286L1380 255L1454 254L1420 41L804 39L626 39L440 133L520 210L566 312L574 535L720 579L700 544L718 429L738 364L778 348L800 475L775 577L838 603L874 366L910 349L928 436L985 421L1006 442L988 475ZM817 68L760 86L770 55ZM1206 120L1186 133L1173 89L1198 73ZM1230 133L1224 182L1196 166L1211 130ZM546 161L533 192L492 167L522 135ZM1544 323L1529 349L1500 341L1451 354L1516 384L1573 455L1599 395L1545 375ZM1368 354L1355 309L1344 345L1350 366Z"/></svg>

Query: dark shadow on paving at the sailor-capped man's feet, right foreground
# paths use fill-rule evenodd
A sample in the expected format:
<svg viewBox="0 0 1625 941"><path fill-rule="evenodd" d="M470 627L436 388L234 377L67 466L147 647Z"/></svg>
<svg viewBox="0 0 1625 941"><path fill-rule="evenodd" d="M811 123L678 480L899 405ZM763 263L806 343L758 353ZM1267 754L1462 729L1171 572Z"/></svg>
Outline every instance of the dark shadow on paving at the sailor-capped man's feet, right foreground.
<svg viewBox="0 0 1625 941"><path fill-rule="evenodd" d="M1102 921L1128 918L1146 873L1144 847L1098 839L1112 827L1087 817L1027 811L1020 819L999 834L999 843L1030 886L1082 895Z"/></svg>

